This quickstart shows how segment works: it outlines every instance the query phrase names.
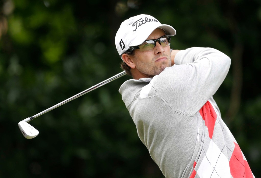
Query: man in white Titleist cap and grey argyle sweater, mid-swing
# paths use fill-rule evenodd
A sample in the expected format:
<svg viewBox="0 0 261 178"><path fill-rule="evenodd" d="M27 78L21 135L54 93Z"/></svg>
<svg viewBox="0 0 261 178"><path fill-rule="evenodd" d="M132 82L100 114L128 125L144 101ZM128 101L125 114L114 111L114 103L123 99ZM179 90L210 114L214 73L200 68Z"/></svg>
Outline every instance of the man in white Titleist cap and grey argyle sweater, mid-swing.
<svg viewBox="0 0 261 178"><path fill-rule="evenodd" d="M213 94L230 58L212 48L171 50L176 31L150 15L122 22L115 44L130 79L119 92L165 177L254 177Z"/></svg>

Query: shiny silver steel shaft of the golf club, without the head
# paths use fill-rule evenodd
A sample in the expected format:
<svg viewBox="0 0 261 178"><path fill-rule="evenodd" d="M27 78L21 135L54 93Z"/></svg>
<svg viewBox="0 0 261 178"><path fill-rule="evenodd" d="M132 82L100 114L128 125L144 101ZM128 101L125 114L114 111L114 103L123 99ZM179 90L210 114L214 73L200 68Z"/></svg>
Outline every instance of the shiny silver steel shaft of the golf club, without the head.
<svg viewBox="0 0 261 178"><path fill-rule="evenodd" d="M76 94L76 95L74 95L74 96L72 96L72 97L70 97L70 98L68 98L68 99L66 99L66 100L64 100L64 101L62 101L62 102L60 102L60 103L58 103L58 104L56 104L56 105L54 105L54 106L44 110L42 112L40 112L40 113L38 113L38 114L35 114L34 116L30 117L30 119L29 118L24 119L24 121L25 122L29 122L29 121L33 120L34 118L36 118L38 116L41 116L41 115L45 114L46 112L49 112L49 111L51 111L51 110L53 110L53 109L55 109L55 108L57 108L59 106L62 106L63 104L66 104L67 102L72 101L72 100L74 100L74 99L76 99L76 98L78 98L78 97L80 97L80 96L82 96L82 95L84 95L84 94L86 94L86 93L96 89L96 88L99 88L99 87L101 87L101 86L103 86L103 85L105 85L105 84L107 84L107 83L109 83L111 81L114 81L115 79L117 79L117 78L119 78L121 76L124 76L125 74L126 74L125 71L123 71L121 73L118 73L115 76L112 76L111 78L108 78L105 81L100 82L100 83L92 86L91 88L88 88L88 89L86 89L86 90L84 90L84 91L82 91L82 92L80 92L80 93L78 93L78 94Z"/></svg>

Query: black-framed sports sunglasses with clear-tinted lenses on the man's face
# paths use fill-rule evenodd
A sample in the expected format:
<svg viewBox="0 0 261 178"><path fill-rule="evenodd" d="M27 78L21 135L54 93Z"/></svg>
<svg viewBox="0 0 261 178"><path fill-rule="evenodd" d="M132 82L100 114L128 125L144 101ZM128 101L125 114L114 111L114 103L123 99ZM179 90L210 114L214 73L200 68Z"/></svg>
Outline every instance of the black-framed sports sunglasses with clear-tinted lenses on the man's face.
<svg viewBox="0 0 261 178"><path fill-rule="evenodd" d="M143 51L151 51L155 46L156 46L156 42L158 41L160 45L162 45L162 47L168 46L170 45L170 36L169 35L164 35L158 39L149 39L146 40L145 42L143 42L142 44L138 45L138 46L132 46L129 49L126 50L126 52L122 53L120 55L120 57L123 54L128 54L131 53L134 49L140 49L141 52Z"/></svg>

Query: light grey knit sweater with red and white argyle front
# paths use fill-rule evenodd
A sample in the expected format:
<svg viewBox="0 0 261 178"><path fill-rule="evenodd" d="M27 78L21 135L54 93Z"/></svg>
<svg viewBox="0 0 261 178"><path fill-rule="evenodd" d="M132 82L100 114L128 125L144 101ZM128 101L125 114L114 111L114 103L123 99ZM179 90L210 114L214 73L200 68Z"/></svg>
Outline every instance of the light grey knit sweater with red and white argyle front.
<svg viewBox="0 0 261 178"><path fill-rule="evenodd" d="M216 49L188 48L159 75L120 87L138 136L165 177L254 177L212 97L230 62Z"/></svg>

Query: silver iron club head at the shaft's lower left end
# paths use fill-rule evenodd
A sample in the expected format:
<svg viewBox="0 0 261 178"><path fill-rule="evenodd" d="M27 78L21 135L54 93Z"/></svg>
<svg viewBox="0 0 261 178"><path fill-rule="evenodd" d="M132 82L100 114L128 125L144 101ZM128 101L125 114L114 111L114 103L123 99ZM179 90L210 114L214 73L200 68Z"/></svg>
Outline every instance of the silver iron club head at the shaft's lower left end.
<svg viewBox="0 0 261 178"><path fill-rule="evenodd" d="M32 139L39 134L38 130L36 130L33 126L31 126L30 124L28 124L25 121L20 121L18 123L18 126L19 126L23 136L27 139Z"/></svg>

